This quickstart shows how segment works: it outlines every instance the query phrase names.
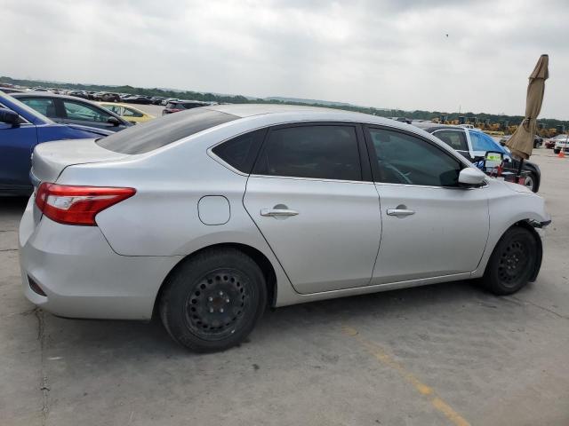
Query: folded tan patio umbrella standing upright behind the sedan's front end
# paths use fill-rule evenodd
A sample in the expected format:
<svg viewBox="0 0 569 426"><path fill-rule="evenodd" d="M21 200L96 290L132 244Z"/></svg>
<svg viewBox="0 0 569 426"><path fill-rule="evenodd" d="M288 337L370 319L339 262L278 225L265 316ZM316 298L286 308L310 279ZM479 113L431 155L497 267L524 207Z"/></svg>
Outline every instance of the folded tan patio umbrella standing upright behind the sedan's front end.
<svg viewBox="0 0 569 426"><path fill-rule="evenodd" d="M506 142L506 146L518 158L527 160L532 155L537 116L540 114L541 104L543 103L545 81L549 78L548 67L548 55L541 55L533 69L532 75L530 75L530 83L527 86L524 121L521 122L512 137Z"/></svg>

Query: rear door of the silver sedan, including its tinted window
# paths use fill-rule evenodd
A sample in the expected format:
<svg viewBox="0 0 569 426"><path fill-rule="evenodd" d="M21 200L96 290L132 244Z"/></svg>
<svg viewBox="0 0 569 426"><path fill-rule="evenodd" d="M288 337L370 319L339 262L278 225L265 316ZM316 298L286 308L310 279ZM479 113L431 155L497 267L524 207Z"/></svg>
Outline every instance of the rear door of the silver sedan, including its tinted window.
<svg viewBox="0 0 569 426"><path fill-rule="evenodd" d="M244 207L298 292L369 284L381 237L380 202L358 125L270 129Z"/></svg>

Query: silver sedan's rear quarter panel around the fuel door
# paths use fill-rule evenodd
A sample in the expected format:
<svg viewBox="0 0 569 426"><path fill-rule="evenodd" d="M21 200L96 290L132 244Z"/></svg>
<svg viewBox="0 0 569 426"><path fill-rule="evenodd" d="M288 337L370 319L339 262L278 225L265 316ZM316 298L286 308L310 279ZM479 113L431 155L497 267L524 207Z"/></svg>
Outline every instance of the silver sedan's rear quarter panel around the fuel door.
<svg viewBox="0 0 569 426"><path fill-rule="evenodd" d="M137 193L102 211L97 225L110 247L123 256L188 256L201 248L238 243L256 248L273 265L279 290L290 281L267 241L243 206L247 176L229 170L207 154L209 146L235 130L202 135L155 154L132 155L116 162L77 164L64 170L58 183L133 187ZM204 136L208 136L205 137ZM194 143L195 142L195 143ZM172 145L176 145L172 144ZM198 203L220 195L230 216L222 225L205 225Z"/></svg>

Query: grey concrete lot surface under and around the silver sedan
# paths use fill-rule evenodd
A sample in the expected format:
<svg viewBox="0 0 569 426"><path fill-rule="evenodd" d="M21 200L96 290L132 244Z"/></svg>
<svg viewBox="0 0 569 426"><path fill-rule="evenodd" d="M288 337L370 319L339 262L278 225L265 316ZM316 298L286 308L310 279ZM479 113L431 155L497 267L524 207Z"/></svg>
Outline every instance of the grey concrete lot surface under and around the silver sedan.
<svg viewBox="0 0 569 426"><path fill-rule="evenodd" d="M553 224L538 280L517 295L461 281L285 307L209 355L157 321L35 310L20 289L25 201L4 199L0 423L569 424L569 159L532 160Z"/></svg>

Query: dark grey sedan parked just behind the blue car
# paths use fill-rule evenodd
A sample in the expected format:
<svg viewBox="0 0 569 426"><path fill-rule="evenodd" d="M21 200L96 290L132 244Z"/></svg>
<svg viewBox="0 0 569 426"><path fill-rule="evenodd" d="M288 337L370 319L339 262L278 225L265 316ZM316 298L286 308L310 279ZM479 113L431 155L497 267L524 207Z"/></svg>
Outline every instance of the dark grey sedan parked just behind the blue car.
<svg viewBox="0 0 569 426"><path fill-rule="evenodd" d="M132 125L94 102L73 96L34 92L13 93L12 96L54 122L81 124L110 131L124 130Z"/></svg>

